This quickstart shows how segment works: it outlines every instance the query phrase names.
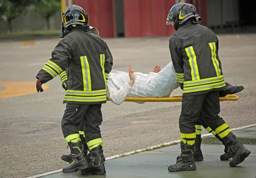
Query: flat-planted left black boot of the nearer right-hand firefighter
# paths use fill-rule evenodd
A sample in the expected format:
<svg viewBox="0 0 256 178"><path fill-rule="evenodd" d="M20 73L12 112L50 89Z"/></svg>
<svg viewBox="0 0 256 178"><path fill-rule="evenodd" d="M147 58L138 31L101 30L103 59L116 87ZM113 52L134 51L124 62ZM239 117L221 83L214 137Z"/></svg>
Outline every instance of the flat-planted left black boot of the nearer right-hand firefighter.
<svg viewBox="0 0 256 178"><path fill-rule="evenodd" d="M194 160L195 145L180 143L181 161L168 167L169 171L193 171L196 170Z"/></svg>

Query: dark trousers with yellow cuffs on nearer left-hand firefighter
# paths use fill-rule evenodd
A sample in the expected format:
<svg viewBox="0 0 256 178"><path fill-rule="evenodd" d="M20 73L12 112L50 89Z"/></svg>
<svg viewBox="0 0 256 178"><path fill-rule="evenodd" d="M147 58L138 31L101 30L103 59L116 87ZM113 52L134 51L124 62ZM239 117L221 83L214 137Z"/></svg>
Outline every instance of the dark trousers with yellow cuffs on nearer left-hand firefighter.
<svg viewBox="0 0 256 178"><path fill-rule="evenodd" d="M85 135L88 148L103 147L99 126L102 123L102 104L66 104L61 128L67 142L80 141ZM83 131L81 131L83 124ZM79 132L80 131L80 132Z"/></svg>

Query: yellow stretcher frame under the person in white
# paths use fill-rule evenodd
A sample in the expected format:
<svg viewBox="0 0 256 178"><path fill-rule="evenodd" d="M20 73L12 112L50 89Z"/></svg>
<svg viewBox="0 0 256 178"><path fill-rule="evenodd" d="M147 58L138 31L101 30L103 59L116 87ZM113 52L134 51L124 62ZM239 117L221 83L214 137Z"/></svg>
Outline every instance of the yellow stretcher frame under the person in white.
<svg viewBox="0 0 256 178"><path fill-rule="evenodd" d="M225 97L220 97L220 101L236 101L239 100L239 96L227 95ZM128 102L181 102L182 96L173 96L166 98L136 98L136 97L126 97Z"/></svg>

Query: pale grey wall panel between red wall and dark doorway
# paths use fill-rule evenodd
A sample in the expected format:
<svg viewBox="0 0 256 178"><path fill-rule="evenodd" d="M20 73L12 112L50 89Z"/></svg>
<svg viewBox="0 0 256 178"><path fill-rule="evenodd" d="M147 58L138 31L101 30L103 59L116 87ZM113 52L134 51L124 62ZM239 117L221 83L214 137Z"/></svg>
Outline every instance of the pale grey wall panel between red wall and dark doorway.
<svg viewBox="0 0 256 178"><path fill-rule="evenodd" d="M239 20L239 0L208 0L208 26L221 26Z"/></svg>

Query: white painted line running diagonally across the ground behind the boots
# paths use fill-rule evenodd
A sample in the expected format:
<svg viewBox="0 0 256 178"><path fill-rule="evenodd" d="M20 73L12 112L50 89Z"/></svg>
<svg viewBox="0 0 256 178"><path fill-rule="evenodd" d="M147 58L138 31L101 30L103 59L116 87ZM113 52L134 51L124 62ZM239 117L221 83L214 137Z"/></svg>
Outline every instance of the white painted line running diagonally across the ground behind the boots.
<svg viewBox="0 0 256 178"><path fill-rule="evenodd" d="M256 124L251 124L251 125L248 125L248 126L237 127L237 128L233 128L231 130L232 131L237 131L237 130L247 129L247 128L254 127L254 126L256 126ZM208 134L201 135L201 138L205 138L205 137L209 137L209 136L212 136L212 134L208 133ZM177 143L177 144L180 143L180 140L171 141L171 142L168 142L168 143L165 143L165 144L150 146L150 147L147 147L145 149L155 149L155 148L158 148L159 146L169 146L169 145L174 145L175 143ZM138 149L138 150L135 150L135 151L132 151L132 152L127 152L127 153L124 153L124 154L111 156L111 157L106 158L106 160L110 160L110 159L114 159L114 158L119 158L120 156L122 157L124 155L127 156L127 155L132 155L134 153L143 152L145 149ZM27 177L27 178L40 178L40 177L43 177L43 176L46 176L46 175L55 174L55 173L58 173L58 172L62 172L62 169L58 169L58 170L51 171L51 172L46 172L46 173L43 173L43 174L33 175L33 176Z"/></svg>

